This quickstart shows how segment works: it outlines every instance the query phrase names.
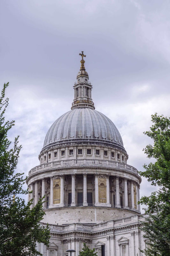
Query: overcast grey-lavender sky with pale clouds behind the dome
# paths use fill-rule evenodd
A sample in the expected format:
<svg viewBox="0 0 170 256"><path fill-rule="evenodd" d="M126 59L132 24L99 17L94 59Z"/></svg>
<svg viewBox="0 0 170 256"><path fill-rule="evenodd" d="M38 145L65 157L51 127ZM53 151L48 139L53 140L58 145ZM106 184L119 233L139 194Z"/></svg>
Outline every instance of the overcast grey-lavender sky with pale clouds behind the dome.
<svg viewBox="0 0 170 256"><path fill-rule="evenodd" d="M1 0L0 84L22 144L18 172L39 164L51 124L70 110L79 52L96 110L122 135L128 164L143 170L151 114L169 116L169 0ZM155 189L143 179L141 196Z"/></svg>

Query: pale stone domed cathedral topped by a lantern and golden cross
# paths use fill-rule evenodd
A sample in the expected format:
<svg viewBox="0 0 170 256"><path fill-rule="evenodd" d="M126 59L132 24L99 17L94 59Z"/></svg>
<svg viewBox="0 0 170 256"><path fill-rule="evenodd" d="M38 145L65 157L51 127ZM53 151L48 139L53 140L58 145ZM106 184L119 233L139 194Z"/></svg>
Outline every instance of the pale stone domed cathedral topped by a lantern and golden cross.
<svg viewBox="0 0 170 256"><path fill-rule="evenodd" d="M127 164L115 124L95 110L80 55L71 110L49 128L40 165L27 179L33 205L45 195L41 225L50 227L49 248L37 248L43 256L70 256L70 249L78 256L86 243L98 256L142 256L147 241L139 230L141 178Z"/></svg>

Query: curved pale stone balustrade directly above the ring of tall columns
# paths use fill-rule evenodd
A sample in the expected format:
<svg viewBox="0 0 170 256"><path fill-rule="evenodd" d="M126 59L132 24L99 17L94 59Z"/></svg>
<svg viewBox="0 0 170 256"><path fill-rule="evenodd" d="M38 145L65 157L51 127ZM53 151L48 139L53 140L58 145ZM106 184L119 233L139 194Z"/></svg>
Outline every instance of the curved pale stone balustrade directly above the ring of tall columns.
<svg viewBox="0 0 170 256"><path fill-rule="evenodd" d="M100 160L100 159L72 159L72 160L60 160L60 161L50 162L47 164L38 165L29 171L29 175L35 172L46 170L46 169L55 169L55 167L64 168L64 167L75 167L75 166L85 166L85 167L95 166L95 167L124 169L124 170L128 170L130 172L134 172L138 174L138 171L136 168L124 163Z"/></svg>

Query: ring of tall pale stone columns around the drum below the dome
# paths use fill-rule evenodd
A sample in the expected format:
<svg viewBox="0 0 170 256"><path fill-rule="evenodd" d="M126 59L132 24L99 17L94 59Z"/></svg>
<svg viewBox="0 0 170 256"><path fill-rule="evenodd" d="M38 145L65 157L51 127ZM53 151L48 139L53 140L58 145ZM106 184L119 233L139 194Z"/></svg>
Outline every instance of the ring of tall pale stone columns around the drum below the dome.
<svg viewBox="0 0 170 256"><path fill-rule="evenodd" d="M109 206L111 207L110 201L110 192L113 193L113 191L110 191L110 176L105 175L106 177L106 203L100 203L99 202L99 179L98 177L100 176L99 174L94 174L95 178L95 206ZM57 204L59 207L64 206L64 175L59 175L60 177L60 204ZM115 177L111 176L112 178L115 178L115 205L114 207L116 208L124 208L124 209L131 209L135 210L135 202L134 202L134 185L136 188L136 210L140 212L140 204L137 204L137 202L140 200L140 194L139 194L139 184L134 182L133 180L130 181L130 198L131 198L131 207L129 208L128 205L128 179L123 178L124 180L124 205L122 207L121 202L120 202L120 185L119 185L119 180L120 177ZM53 180L55 179L55 176L50 177L50 204L49 208L55 207L55 204L53 202L53 189L54 189L54 184ZM122 179L122 178L121 178ZM42 186L41 186L41 195L45 196L45 178L42 178ZM76 175L71 174L71 204L70 206L76 206L76 189L75 189L75 182L76 182ZM38 180L33 183L29 184L29 191L33 191L33 193L28 194L28 200L33 199L34 197L34 205L37 204L38 202ZM87 202L87 173L83 173L83 206L88 206ZM31 205L31 208L33 207L33 204ZM45 208L45 202L43 203L43 207Z"/></svg>

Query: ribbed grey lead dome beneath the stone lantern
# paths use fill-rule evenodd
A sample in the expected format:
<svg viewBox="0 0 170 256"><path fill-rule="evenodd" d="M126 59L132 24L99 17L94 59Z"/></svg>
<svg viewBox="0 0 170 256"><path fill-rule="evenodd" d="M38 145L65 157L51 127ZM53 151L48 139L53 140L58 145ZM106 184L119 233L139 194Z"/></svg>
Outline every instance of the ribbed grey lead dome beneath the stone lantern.
<svg viewBox="0 0 170 256"><path fill-rule="evenodd" d="M60 116L49 128L44 147L77 139L102 140L123 147L115 124L107 116L91 108L76 108Z"/></svg>

